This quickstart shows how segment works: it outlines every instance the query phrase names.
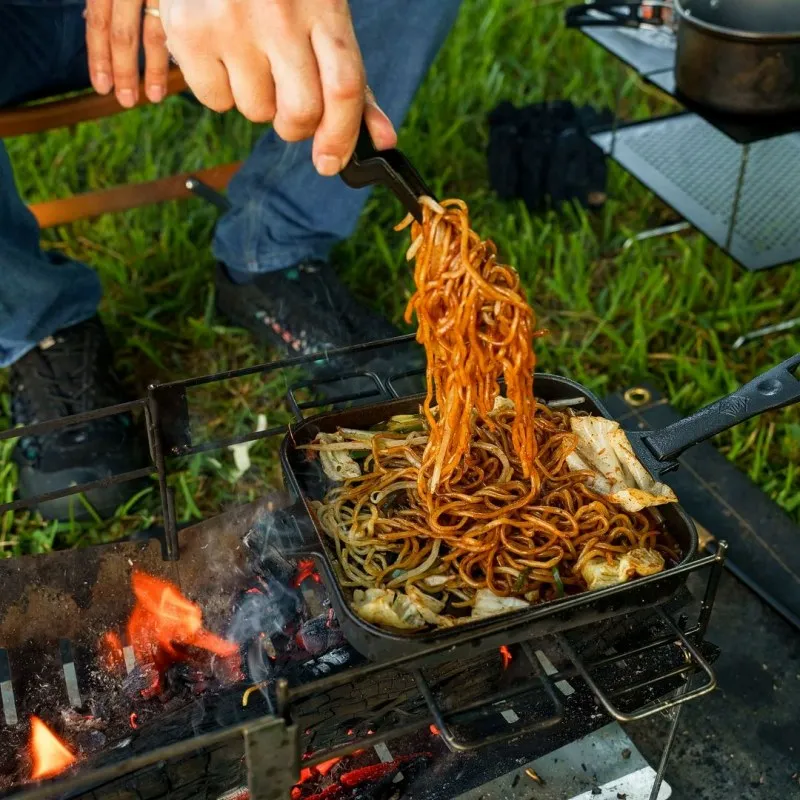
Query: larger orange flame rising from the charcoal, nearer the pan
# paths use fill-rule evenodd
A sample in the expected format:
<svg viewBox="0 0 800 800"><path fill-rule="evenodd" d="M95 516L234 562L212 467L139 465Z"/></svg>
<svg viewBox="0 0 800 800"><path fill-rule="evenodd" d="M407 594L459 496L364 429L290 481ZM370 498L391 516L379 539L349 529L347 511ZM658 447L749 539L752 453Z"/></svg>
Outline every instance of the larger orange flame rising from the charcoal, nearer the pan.
<svg viewBox="0 0 800 800"><path fill-rule="evenodd" d="M223 658L237 657L239 647L203 628L203 612L184 597L177 586L144 572L134 572L136 605L128 620L128 639L137 661L154 664L162 673L185 658L184 650L195 647ZM160 679L151 692L157 691Z"/></svg>

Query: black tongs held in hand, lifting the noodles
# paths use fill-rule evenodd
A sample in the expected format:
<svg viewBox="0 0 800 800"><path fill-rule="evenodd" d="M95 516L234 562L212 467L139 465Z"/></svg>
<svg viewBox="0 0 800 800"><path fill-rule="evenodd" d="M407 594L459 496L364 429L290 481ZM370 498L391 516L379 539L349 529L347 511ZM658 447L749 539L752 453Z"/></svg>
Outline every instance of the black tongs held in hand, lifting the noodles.
<svg viewBox="0 0 800 800"><path fill-rule="evenodd" d="M375 149L364 122L361 123L356 149L339 175L352 189L375 184L385 186L419 222L422 221L419 198L436 199L414 165L399 150Z"/></svg>

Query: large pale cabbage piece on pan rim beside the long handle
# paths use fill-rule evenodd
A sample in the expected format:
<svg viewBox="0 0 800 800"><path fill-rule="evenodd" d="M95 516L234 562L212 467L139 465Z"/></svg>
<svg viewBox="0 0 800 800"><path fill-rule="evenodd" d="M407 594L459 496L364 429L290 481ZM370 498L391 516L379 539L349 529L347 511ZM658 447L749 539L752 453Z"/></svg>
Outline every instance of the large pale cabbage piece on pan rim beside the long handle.
<svg viewBox="0 0 800 800"><path fill-rule="evenodd" d="M644 468L618 422L603 417L572 417L570 426L578 445L567 456L567 466L593 472L589 486L596 492L631 512L678 502L675 492L654 480Z"/></svg>

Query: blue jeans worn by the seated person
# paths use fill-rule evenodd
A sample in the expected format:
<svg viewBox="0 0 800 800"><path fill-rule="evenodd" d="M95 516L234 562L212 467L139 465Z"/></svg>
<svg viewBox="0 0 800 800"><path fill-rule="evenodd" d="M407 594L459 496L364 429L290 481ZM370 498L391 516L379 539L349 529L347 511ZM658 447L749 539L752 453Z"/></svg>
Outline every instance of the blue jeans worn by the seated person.
<svg viewBox="0 0 800 800"><path fill-rule="evenodd" d="M399 125L458 12L460 0L350 0L367 79ZM0 107L89 85L83 2L0 0ZM135 112L134 112L135 113ZM229 187L214 255L240 272L270 272L325 259L355 229L366 191L322 178L311 142L272 131ZM14 185L0 142L0 366L93 316L100 282L85 264L39 245L39 229Z"/></svg>

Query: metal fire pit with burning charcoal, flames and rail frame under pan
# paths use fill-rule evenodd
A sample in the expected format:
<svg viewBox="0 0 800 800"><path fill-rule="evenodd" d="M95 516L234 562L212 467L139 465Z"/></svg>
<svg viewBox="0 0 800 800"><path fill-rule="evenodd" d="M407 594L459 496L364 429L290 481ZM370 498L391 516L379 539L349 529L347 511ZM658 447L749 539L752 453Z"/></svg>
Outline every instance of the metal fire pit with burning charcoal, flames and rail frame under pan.
<svg viewBox="0 0 800 800"><path fill-rule="evenodd" d="M448 769L463 772L448 753L523 747L530 759L609 719L679 709L714 688L716 651L704 635L724 547L679 567L706 575L699 610L682 592L667 604L499 647L498 620L492 636L467 637L468 655L458 660L448 660L446 643L431 646L426 655L439 657L423 669L418 653L370 663L347 643L314 562L287 556L296 526L281 510L290 498L270 495L178 531L168 458L286 433L276 427L196 443L191 390L308 360L154 386L133 404L144 410L161 488L160 538L0 561L0 797L413 797L423 771L435 768L442 780ZM414 380L347 373L329 384L345 387L340 403L357 403L405 395ZM320 404L301 399L318 388L290 390L298 419ZM657 784L676 725L677 713ZM481 781L501 774L501 759L482 763Z"/></svg>

